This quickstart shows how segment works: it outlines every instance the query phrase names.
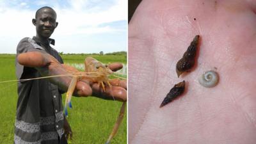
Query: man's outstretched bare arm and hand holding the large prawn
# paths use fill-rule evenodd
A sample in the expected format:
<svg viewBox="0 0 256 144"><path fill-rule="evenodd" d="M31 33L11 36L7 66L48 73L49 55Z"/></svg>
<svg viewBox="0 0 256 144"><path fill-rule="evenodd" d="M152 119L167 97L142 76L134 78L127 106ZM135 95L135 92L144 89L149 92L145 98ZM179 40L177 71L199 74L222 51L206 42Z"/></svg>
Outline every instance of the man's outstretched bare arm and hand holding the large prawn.
<svg viewBox="0 0 256 144"><path fill-rule="evenodd" d="M35 67L36 70L40 72L42 76L60 76L60 77L51 77L51 82L57 84L61 90L67 92L68 85L72 79L72 70L70 67L67 67L58 62L53 56L44 52L25 52L17 56L17 60L20 65L26 67ZM113 69L118 69L118 65L111 65ZM73 71L76 70L73 68ZM68 76L70 75L70 76ZM126 83L124 81L111 81L113 86L111 88L107 87L106 91L103 92L102 88L98 84L93 84L88 81L78 81L76 84L76 90L74 95L87 97L89 95L94 95L101 99L115 99L120 101L127 100L127 91ZM120 83L120 84L119 84ZM118 85L118 86L116 86ZM121 87L121 86L124 86ZM91 88L92 86L92 88Z"/></svg>

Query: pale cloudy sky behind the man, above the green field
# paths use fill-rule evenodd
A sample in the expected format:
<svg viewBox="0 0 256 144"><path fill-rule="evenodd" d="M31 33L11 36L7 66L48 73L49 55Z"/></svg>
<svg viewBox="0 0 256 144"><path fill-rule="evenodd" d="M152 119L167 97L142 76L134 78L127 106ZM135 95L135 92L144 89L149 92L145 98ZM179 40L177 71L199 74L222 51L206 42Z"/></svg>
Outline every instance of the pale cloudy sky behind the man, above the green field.
<svg viewBox="0 0 256 144"><path fill-rule="evenodd" d="M32 19L42 6L57 13L57 51L127 51L127 0L0 0L0 53L16 53L22 38L36 35Z"/></svg>

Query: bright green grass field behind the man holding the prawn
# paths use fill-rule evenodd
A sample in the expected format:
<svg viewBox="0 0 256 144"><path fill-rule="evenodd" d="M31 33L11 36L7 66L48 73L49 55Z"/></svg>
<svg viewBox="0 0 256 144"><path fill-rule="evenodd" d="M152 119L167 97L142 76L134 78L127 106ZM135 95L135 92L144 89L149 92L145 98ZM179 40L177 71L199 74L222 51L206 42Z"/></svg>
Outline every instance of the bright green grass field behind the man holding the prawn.
<svg viewBox="0 0 256 144"><path fill-rule="evenodd" d="M92 56L104 63L120 60L126 63L125 56ZM117 57L117 58L116 58ZM62 56L65 63L83 63L84 56ZM16 79L15 77L15 55L0 54L0 81ZM17 83L0 83L0 143L13 143L15 113L17 104ZM63 95L65 100L65 95ZM108 139L116 118L120 111L122 102L102 100L95 97L73 97L73 109L68 111L68 122L73 131L71 144L102 144ZM122 125L112 144L127 143L127 117L126 112Z"/></svg>

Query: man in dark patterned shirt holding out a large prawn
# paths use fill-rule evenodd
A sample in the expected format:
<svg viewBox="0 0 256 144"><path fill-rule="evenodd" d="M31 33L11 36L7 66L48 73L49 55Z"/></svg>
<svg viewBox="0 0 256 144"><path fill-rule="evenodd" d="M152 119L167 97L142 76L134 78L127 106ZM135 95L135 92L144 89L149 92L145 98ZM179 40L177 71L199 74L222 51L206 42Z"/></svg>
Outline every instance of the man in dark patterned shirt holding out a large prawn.
<svg viewBox="0 0 256 144"><path fill-rule="evenodd" d="M58 26L56 12L50 7L42 7L36 11L36 36L23 38L17 46L16 75L18 79L28 79L54 74L66 74L61 65L63 60L58 52L52 49L54 40L49 38ZM109 65L112 69L118 65ZM61 73L62 72L62 73ZM14 142L19 143L67 143L65 136L72 136L72 131L65 116L61 93L67 91L71 77L54 79L34 79L18 83L19 99L15 122ZM118 85L119 82L116 82ZM113 86L113 90L102 92L97 84L77 82L75 95L95 95L102 99L110 99L110 93L121 101L126 101L126 90ZM126 86L125 86L126 87ZM110 92L110 93L109 93ZM64 128L64 130L63 130Z"/></svg>

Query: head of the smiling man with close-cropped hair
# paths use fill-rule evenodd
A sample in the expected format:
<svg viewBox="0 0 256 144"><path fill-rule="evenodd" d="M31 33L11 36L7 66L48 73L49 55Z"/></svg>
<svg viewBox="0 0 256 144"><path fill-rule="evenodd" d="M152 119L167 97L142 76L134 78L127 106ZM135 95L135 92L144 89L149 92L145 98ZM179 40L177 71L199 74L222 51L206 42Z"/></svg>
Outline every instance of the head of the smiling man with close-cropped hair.
<svg viewBox="0 0 256 144"><path fill-rule="evenodd" d="M39 8L36 11L35 19L32 20L36 26L36 36L42 39L49 38L58 26L56 17L56 12L52 8L48 6Z"/></svg>

